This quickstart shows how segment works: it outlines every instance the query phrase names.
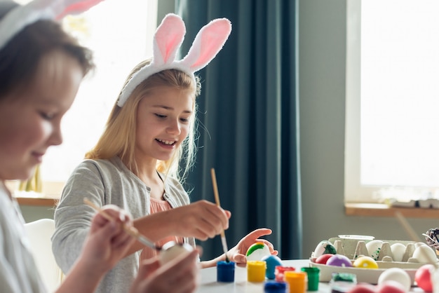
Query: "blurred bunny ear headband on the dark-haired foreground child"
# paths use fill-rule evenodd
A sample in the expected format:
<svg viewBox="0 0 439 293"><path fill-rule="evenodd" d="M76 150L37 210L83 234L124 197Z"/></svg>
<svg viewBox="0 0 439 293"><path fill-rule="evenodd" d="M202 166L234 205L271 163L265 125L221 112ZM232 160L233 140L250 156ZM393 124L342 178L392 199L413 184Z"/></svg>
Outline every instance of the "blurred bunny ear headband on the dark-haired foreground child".
<svg viewBox="0 0 439 293"><path fill-rule="evenodd" d="M102 0L34 0L17 6L0 20L0 50L15 34L38 20L61 20L69 14L79 14Z"/></svg>

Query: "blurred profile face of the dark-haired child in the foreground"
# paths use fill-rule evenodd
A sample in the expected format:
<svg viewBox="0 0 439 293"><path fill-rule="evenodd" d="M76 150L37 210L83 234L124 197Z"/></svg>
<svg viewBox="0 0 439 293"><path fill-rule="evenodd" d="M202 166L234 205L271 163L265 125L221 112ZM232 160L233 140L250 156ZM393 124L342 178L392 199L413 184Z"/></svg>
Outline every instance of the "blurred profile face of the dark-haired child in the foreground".
<svg viewBox="0 0 439 293"><path fill-rule="evenodd" d="M25 89L1 97L0 179L29 178L48 147L61 144L61 118L82 78L79 63L57 50L41 59Z"/></svg>

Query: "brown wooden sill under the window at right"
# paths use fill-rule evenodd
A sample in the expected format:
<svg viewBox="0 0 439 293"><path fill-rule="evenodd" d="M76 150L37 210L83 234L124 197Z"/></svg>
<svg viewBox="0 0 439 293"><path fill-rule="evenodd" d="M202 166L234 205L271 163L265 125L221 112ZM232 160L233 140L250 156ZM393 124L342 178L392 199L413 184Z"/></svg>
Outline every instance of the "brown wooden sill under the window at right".
<svg viewBox="0 0 439 293"><path fill-rule="evenodd" d="M363 217L395 217L400 212L408 218L435 218L439 217L439 209L422 207L389 207L381 203L344 203L346 216Z"/></svg>

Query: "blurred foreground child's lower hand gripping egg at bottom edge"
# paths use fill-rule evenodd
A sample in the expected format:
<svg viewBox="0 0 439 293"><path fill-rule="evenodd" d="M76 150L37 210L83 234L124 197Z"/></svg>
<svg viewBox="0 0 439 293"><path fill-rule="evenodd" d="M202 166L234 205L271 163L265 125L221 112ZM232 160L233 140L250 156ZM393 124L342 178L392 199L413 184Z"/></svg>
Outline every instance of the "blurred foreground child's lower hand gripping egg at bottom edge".
<svg viewBox="0 0 439 293"><path fill-rule="evenodd" d="M198 249L180 254L175 259L160 265L158 257L140 263L139 273L130 293L191 293L200 282Z"/></svg>

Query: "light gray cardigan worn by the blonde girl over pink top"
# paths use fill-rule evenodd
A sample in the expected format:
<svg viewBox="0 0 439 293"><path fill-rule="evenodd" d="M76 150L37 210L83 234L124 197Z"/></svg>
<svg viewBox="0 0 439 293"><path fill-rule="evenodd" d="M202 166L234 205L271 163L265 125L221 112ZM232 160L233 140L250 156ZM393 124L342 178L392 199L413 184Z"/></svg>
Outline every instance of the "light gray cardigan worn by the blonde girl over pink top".
<svg viewBox="0 0 439 293"><path fill-rule="evenodd" d="M190 203L187 192L176 179L168 177L165 184L166 200L172 207ZM149 193L149 187L128 170L119 157L79 164L67 180L55 210L52 249L62 271L67 273L79 257L95 214L92 207L83 203L83 198L99 206L117 205L137 219L149 214ZM184 241L195 245L194 238L184 238ZM137 275L139 256L140 251L119 261L105 275L96 292L128 292Z"/></svg>

